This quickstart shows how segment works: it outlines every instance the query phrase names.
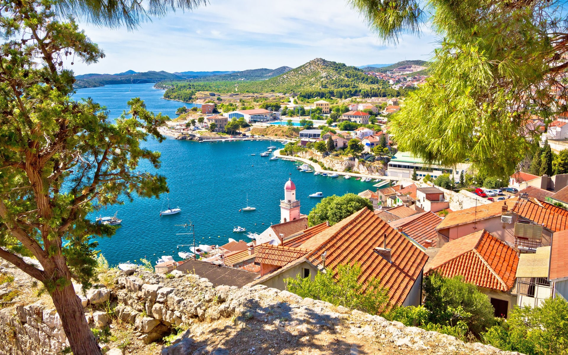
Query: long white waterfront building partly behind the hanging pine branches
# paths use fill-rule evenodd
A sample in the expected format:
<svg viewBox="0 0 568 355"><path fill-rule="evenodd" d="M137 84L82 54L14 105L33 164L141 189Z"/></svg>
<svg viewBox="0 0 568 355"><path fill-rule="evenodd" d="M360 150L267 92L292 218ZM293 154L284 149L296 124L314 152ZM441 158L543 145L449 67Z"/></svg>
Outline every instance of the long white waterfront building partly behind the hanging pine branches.
<svg viewBox="0 0 568 355"><path fill-rule="evenodd" d="M449 174L450 177L453 175L456 181L460 181L460 175L465 174L470 166L470 164L461 163L457 164L454 170L451 167L428 164L410 152L397 152L387 166L387 175L410 179L414 168L416 168L416 175L419 178L425 177L427 174L430 174L432 178L437 178L441 174Z"/></svg>

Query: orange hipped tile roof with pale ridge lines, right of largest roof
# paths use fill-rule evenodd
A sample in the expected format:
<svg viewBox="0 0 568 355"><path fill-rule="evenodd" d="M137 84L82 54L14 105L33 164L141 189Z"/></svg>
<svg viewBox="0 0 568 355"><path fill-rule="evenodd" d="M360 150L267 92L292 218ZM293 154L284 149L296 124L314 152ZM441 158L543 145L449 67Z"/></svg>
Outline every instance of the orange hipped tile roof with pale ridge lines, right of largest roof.
<svg viewBox="0 0 568 355"><path fill-rule="evenodd" d="M515 285L517 265L515 249L482 229L444 244L429 262L427 272L436 270L445 277L461 275L478 287L506 292Z"/></svg>

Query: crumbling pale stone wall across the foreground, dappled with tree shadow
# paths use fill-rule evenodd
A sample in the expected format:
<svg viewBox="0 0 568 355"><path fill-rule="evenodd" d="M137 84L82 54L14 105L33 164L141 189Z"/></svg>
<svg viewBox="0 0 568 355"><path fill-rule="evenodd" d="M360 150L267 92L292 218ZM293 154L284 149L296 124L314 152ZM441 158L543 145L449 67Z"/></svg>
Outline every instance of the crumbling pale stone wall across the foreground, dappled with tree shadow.
<svg viewBox="0 0 568 355"><path fill-rule="evenodd" d="M114 285L81 295L93 327L131 324L144 344L185 329L148 354L511 354L264 285L214 287L194 274L110 273ZM44 300L0 310L0 354L55 355L67 345L59 315Z"/></svg>

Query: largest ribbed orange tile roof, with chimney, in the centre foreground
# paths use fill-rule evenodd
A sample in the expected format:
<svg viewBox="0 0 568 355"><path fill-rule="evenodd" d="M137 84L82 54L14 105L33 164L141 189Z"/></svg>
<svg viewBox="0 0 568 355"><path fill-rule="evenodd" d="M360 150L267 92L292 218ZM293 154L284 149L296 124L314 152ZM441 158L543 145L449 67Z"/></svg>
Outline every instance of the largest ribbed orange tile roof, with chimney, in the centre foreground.
<svg viewBox="0 0 568 355"><path fill-rule="evenodd" d="M386 247L391 249L391 262L374 251L375 247L382 247L385 234ZM320 235L324 238L314 237L320 245L306 256L308 261L318 266L322 263L321 255L327 252L326 268L335 270L338 265L357 262L362 269L358 282L366 285L371 278L379 279L381 286L389 289L392 305L404 302L428 260L428 256L412 241L366 207ZM310 241L302 248L310 249L306 245Z"/></svg>

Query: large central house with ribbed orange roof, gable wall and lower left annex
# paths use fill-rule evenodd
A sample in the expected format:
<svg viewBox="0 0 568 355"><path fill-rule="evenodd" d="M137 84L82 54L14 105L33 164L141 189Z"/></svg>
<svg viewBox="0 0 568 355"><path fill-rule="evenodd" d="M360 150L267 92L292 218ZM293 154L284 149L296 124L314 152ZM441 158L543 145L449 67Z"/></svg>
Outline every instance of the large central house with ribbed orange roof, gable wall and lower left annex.
<svg viewBox="0 0 568 355"><path fill-rule="evenodd" d="M252 285L284 290L286 277L314 277L318 270L337 272L339 265L357 262L364 270L358 281L366 285L376 278L390 304L417 306L427 260L424 248L362 208L297 247L262 245L256 257L261 277Z"/></svg>

